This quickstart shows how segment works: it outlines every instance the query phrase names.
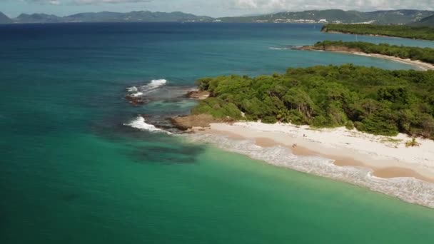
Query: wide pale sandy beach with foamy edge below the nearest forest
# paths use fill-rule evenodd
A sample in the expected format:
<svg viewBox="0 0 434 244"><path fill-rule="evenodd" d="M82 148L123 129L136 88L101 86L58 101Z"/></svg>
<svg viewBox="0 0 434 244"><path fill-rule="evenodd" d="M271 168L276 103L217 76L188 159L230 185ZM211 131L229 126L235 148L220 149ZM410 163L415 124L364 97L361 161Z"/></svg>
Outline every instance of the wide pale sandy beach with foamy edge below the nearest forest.
<svg viewBox="0 0 434 244"><path fill-rule="evenodd" d="M410 138L405 134L374 136L282 123L211 123L193 131L196 140L228 151L434 208L434 141L418 138L419 147L406 148Z"/></svg>

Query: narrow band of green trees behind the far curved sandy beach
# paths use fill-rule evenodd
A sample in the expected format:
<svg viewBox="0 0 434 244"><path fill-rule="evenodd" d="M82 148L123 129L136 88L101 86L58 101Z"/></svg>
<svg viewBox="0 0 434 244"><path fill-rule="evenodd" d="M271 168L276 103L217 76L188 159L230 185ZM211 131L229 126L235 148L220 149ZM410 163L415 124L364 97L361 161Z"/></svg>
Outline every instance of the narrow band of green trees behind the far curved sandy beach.
<svg viewBox="0 0 434 244"><path fill-rule="evenodd" d="M367 54L382 54L395 56L401 59L420 60L434 64L434 49L412 46L395 46L389 44L370 44L368 42L354 41L319 41L314 46L316 49L328 50L345 48L350 51L362 51Z"/></svg>

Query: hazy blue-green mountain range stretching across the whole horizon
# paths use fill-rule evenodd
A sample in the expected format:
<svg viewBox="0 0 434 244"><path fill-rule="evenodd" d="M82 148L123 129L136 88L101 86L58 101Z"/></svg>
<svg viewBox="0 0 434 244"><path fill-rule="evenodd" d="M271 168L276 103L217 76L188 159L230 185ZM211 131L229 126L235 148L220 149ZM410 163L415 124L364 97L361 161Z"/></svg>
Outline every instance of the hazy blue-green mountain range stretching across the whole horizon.
<svg viewBox="0 0 434 244"><path fill-rule="evenodd" d="M132 11L129 13L98 12L81 13L59 17L49 14L20 14L9 19L0 12L0 24L10 23L65 23L65 22L301 22L301 23L369 23L369 24L415 24L433 23L434 11L392 10L392 11L343 11L340 9L281 12L255 16L211 18L183 12ZM431 19L430 19L431 18Z"/></svg>

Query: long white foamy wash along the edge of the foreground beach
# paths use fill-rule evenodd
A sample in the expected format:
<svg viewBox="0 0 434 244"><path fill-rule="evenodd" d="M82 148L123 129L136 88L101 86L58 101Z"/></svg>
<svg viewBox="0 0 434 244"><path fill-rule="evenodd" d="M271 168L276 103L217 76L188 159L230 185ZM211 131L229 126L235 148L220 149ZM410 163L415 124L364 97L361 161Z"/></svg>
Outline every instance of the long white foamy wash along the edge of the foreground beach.
<svg viewBox="0 0 434 244"><path fill-rule="evenodd" d="M275 166L345 181L395 196L408 203L434 208L434 183L420 181L416 178L378 178L373 176L372 171L367 168L335 166L333 160L296 156L289 148L281 146L263 148L256 146L253 141L235 141L216 135L193 134L189 138L193 141L212 143L223 150L241 153Z"/></svg>

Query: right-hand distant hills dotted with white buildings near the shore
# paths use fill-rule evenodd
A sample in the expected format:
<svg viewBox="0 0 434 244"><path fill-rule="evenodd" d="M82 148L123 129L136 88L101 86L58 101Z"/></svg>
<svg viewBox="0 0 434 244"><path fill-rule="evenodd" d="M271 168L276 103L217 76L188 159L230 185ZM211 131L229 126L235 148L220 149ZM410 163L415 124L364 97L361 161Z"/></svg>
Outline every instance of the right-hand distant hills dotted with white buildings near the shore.
<svg viewBox="0 0 434 244"><path fill-rule="evenodd" d="M261 16L226 17L223 22L320 22L329 23L372 23L372 24L408 24L431 16L434 11L393 10L393 11L343 11L340 9L313 10L301 12L281 12Z"/></svg>

